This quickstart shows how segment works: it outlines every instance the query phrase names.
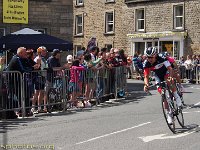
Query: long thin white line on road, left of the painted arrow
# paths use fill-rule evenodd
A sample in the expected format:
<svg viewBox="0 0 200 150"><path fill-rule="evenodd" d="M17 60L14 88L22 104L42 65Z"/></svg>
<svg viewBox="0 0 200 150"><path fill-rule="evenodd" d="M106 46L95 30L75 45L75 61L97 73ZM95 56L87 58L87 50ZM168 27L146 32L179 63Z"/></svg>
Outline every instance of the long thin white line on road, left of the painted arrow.
<svg viewBox="0 0 200 150"><path fill-rule="evenodd" d="M95 138L92 138L92 139L89 139L89 140L86 140L86 141L82 141L82 142L76 143L76 145L80 145L80 144L91 142L91 141L94 141L94 140L97 140L97 139L101 139L101 138L104 138L104 137L107 137L107 136L110 136L110 135L114 135L114 134L118 134L118 133L125 132L125 131L128 131L128 130L132 130L134 128L138 128L138 127L150 124L150 123L151 122L146 122L146 123L139 124L137 126L133 126L133 127L127 128L127 129L123 129L123 130L115 131L115 132L112 132L112 133L109 133L109 134L105 134L105 135L102 135L102 136L98 136L98 137L95 137Z"/></svg>

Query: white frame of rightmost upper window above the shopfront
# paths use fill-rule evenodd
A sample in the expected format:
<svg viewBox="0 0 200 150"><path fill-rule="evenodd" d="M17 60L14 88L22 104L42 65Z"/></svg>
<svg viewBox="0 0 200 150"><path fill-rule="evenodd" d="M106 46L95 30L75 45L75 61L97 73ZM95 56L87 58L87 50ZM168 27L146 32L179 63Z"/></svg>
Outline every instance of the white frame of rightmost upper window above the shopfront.
<svg viewBox="0 0 200 150"><path fill-rule="evenodd" d="M180 6L182 6L182 8L183 8L183 12L182 12L183 14L182 14L182 16L176 16L177 7L180 7ZM185 26L185 24L184 24L184 22L185 22L184 3L173 4L173 6L172 6L172 11L173 11L173 29L174 29L174 30L184 30L184 26ZM177 19L178 19L178 18L182 18L182 26L179 26L179 27L176 26L176 22L177 22Z"/></svg>

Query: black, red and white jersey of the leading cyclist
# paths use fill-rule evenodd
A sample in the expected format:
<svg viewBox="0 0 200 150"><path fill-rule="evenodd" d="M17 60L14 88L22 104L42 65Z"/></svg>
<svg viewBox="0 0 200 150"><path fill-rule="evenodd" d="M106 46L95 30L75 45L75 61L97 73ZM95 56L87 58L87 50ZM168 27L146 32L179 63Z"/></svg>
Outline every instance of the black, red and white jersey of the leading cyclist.
<svg viewBox="0 0 200 150"><path fill-rule="evenodd" d="M144 67L144 75L150 73L150 71L155 72L155 75L161 80L164 81L164 77L168 74L167 67L171 66L170 62L167 59L164 59L160 56L156 56L156 62L151 64L148 60L145 60Z"/></svg>

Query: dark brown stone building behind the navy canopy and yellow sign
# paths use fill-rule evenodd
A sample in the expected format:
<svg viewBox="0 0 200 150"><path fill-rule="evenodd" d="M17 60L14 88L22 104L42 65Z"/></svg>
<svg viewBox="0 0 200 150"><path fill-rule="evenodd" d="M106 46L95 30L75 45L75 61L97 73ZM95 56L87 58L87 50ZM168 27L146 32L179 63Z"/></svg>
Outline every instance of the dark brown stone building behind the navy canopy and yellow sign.
<svg viewBox="0 0 200 150"><path fill-rule="evenodd" d="M28 1L28 24L3 23L0 15L0 36L28 27L73 42L73 0ZM3 0L0 12L3 12Z"/></svg>

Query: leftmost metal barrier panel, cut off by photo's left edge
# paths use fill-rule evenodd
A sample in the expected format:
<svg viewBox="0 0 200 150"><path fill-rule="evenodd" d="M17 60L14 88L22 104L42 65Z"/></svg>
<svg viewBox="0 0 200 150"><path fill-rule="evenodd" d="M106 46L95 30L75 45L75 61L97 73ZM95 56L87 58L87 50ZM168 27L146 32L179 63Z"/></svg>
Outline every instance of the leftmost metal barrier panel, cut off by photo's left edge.
<svg viewBox="0 0 200 150"><path fill-rule="evenodd" d="M0 118L5 112L22 111L24 108L22 74L18 71L0 72Z"/></svg>

